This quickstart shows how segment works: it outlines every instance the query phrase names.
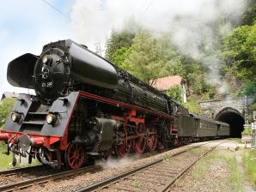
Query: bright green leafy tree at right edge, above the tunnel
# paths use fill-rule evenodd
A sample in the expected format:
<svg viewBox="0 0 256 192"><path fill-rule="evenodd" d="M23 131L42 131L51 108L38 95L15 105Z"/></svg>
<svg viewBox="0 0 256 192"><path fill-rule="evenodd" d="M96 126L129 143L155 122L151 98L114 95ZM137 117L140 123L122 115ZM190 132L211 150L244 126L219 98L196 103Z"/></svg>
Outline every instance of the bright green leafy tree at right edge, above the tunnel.
<svg viewBox="0 0 256 192"><path fill-rule="evenodd" d="M228 77L230 91L235 95L255 95L256 22L234 28L223 39L222 57L225 60L222 69L224 76Z"/></svg>

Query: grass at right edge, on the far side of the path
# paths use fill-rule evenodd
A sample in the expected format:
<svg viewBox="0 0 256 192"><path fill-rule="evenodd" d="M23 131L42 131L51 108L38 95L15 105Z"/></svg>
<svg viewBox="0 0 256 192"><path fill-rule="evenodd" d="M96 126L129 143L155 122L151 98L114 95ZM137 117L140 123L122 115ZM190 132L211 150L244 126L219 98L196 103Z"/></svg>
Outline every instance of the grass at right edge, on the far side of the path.
<svg viewBox="0 0 256 192"><path fill-rule="evenodd" d="M245 150L242 156L242 162L250 182L256 186L256 150Z"/></svg>

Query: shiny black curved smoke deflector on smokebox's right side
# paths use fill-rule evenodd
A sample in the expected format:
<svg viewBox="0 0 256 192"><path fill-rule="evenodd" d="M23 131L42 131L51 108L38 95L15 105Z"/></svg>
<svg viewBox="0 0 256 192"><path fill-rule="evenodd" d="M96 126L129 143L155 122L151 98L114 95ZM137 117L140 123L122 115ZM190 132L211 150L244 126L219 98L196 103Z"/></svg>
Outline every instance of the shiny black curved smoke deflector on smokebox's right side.
<svg viewBox="0 0 256 192"><path fill-rule="evenodd" d="M71 75L78 81L94 86L113 89L118 84L118 75L111 63L95 55L82 45L70 43Z"/></svg>

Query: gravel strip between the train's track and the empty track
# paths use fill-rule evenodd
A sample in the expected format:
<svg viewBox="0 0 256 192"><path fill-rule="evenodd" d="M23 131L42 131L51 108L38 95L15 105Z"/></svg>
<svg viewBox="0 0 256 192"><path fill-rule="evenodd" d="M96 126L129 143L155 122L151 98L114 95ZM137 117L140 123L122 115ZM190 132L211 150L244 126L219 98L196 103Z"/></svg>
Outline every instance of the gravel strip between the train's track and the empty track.
<svg viewBox="0 0 256 192"><path fill-rule="evenodd" d="M215 142L216 143L216 142ZM201 143L193 143L184 147L175 148L165 153L160 153L146 159L137 159L137 157L126 157L121 160L110 160L107 163L103 163L102 166L105 168L103 171L96 173L84 173L76 177L65 178L59 181L52 181L45 184L34 185L32 188L24 189L22 191L76 191L82 187L88 186L92 183L98 183L108 177L119 175L121 172L129 171L140 165L149 163L162 157L167 157L173 153L177 153L180 150L184 150L187 147L197 146ZM20 190L21 191L21 190Z"/></svg>

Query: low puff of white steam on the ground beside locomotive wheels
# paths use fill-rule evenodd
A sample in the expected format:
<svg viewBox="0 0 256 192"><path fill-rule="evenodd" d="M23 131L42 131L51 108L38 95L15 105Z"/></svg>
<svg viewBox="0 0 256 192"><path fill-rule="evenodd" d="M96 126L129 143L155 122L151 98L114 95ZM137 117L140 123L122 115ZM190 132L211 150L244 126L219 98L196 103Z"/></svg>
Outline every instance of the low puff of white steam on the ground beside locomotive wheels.
<svg viewBox="0 0 256 192"><path fill-rule="evenodd" d="M128 165L131 164L132 162L134 162L135 160L139 159L138 156L125 156L123 158L119 158L119 159L107 159L107 161L103 161L103 160L98 160L96 161L96 165L101 165L103 167L103 169L108 169L108 168L115 168L121 165Z"/></svg>

